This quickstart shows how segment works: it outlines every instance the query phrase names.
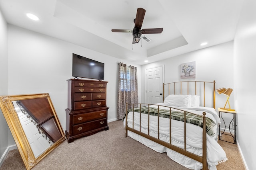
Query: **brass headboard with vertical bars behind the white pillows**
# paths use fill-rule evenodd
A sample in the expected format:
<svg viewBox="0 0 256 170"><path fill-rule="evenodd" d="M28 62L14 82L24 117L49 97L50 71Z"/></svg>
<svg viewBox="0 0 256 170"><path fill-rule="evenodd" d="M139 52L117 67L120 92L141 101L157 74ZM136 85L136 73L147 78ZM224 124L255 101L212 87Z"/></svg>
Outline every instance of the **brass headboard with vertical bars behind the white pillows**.
<svg viewBox="0 0 256 170"><path fill-rule="evenodd" d="M212 88L212 85L213 85L213 88ZM168 88L167 92L165 90L166 88ZM206 93L206 90L207 90L207 93ZM208 91L211 91L211 93ZM165 94L167 96L170 94L191 94L191 95L200 94L200 96L203 97L203 103L204 103L203 106L205 107L206 94L208 94L208 96L210 96L209 93L213 95L212 96L212 104L213 104L212 107L215 109L215 80L213 82L180 81L180 82L171 82L171 83L163 84L163 101L164 101Z"/></svg>

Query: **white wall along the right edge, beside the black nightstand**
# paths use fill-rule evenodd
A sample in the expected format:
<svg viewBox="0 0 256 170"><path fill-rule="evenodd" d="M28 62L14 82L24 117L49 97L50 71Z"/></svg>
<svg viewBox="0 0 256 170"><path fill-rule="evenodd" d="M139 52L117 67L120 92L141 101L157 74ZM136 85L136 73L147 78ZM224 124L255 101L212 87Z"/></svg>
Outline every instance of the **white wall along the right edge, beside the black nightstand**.
<svg viewBox="0 0 256 170"><path fill-rule="evenodd" d="M235 106L238 143L249 170L256 167L256 1L245 0L234 38Z"/></svg>

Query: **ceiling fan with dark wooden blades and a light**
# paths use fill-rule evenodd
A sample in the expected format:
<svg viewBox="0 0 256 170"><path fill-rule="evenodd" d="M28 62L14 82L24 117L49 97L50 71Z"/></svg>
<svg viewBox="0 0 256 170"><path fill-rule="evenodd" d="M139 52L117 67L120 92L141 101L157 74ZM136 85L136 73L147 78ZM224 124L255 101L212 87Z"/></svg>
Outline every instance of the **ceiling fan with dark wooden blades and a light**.
<svg viewBox="0 0 256 170"><path fill-rule="evenodd" d="M130 29L112 29L112 32L116 33L132 33L133 35L133 41L132 43L138 43L140 41L140 36L142 34L156 34L156 33L162 33L163 28L146 28L141 29L142 22L145 16L146 10L143 8L137 9L136 18L134 19L135 26L133 30Z"/></svg>

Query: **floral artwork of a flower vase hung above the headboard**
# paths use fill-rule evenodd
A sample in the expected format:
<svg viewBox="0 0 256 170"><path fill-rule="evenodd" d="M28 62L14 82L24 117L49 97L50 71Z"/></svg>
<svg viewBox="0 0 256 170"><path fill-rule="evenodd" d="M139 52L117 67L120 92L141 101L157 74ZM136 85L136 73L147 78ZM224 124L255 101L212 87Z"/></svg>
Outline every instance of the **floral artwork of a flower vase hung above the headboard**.
<svg viewBox="0 0 256 170"><path fill-rule="evenodd" d="M180 78L196 78L196 62L180 64Z"/></svg>

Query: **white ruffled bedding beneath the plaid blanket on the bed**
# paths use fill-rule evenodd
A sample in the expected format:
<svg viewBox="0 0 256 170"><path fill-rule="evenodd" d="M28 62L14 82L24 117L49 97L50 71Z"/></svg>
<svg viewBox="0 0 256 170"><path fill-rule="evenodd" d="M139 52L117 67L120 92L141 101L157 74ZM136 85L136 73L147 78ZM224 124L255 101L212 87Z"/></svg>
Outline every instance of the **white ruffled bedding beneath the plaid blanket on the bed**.
<svg viewBox="0 0 256 170"><path fill-rule="evenodd" d="M164 103L158 103L158 105L164 105ZM150 107L158 107L156 105L151 105ZM161 109L164 109L163 106L160 106ZM209 117L216 123L220 123L220 118L218 114L213 108L210 107L176 107L177 109L182 109L186 111L190 111L192 113L202 115L202 112L206 112L206 117ZM167 108L169 109L169 107ZM132 112L128 114L128 127L132 127ZM141 114L141 132L148 133L148 115ZM159 139L165 142L170 142L169 135L169 122L170 119L159 117L160 127L159 127ZM124 127L126 121L124 120ZM140 127L140 113L134 112L134 129L139 130ZM207 138L207 162L208 168L210 170L216 170L216 165L220 162L224 162L227 160L226 153L222 149L222 147L217 143L218 133L217 133L217 125L214 126L215 135L210 136L206 135ZM184 148L184 122L176 121L172 119L172 145L175 145L180 148ZM166 152L167 155L174 161L182 164L183 166L200 170L202 169L202 163L197 162L191 158L188 158L178 152L170 150L160 144L157 144L149 139L146 139L136 133L132 133L128 131L128 136L133 139L139 141L140 143L150 147L151 149L157 152ZM158 137L158 117L150 115L150 136ZM202 156L202 128L196 125L186 123L186 150L189 152L193 152L194 154L198 154Z"/></svg>

